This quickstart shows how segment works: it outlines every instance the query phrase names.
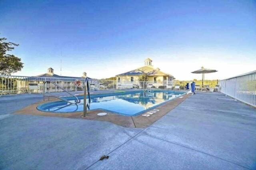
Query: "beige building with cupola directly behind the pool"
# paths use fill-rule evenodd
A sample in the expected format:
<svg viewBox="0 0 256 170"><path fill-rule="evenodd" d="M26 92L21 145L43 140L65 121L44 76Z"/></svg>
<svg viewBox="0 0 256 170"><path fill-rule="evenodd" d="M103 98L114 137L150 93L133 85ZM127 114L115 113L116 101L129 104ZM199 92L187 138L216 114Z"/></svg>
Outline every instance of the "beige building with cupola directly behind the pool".
<svg viewBox="0 0 256 170"><path fill-rule="evenodd" d="M175 79L172 75L160 71L159 68L155 69L152 65L152 59L147 58L144 60L143 67L116 75L117 89L141 86L139 81L143 74L148 76L147 85L151 85L156 88L163 85L172 85L172 82Z"/></svg>

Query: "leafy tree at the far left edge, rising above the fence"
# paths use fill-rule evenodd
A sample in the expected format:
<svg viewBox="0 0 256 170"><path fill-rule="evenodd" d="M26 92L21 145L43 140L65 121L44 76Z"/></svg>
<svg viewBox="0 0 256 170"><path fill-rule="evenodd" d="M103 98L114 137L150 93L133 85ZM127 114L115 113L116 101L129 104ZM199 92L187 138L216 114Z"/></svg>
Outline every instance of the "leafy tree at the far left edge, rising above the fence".
<svg viewBox="0 0 256 170"><path fill-rule="evenodd" d="M18 46L18 44L6 42L6 40L6 38L0 38L0 75L10 75L23 68L20 58L15 55L6 54L8 51L12 51L14 46Z"/></svg>

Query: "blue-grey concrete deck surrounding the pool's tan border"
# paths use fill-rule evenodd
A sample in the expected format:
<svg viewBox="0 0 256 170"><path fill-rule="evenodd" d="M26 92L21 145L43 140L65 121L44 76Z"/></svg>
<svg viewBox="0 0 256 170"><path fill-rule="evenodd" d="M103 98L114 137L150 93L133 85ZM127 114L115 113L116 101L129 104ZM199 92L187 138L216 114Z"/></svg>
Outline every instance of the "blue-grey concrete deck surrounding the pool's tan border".
<svg viewBox="0 0 256 170"><path fill-rule="evenodd" d="M0 98L0 169L256 168L256 109L221 93L192 95L148 128L13 114L41 100Z"/></svg>

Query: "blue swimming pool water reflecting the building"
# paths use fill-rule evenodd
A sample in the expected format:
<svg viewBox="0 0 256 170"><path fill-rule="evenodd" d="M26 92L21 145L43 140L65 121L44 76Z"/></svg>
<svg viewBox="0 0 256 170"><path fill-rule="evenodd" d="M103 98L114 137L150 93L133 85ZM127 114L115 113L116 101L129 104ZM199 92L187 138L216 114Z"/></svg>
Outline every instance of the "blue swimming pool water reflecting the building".
<svg viewBox="0 0 256 170"><path fill-rule="evenodd" d="M184 91L136 91L107 95L91 95L90 110L103 109L121 115L134 116L184 93ZM66 99L74 101L74 98ZM70 105L64 101L56 101L39 105L37 108L40 111L54 113L83 111L84 97L80 96L78 99L80 99L81 102L77 105ZM88 102L88 99L86 99L86 101Z"/></svg>

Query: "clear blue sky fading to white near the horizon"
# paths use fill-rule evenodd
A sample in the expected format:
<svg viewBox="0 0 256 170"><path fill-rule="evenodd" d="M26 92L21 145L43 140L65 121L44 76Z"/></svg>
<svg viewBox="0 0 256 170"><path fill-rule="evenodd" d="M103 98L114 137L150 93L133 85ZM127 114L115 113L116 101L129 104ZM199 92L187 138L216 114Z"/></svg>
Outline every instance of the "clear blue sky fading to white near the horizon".
<svg viewBox="0 0 256 170"><path fill-rule="evenodd" d="M105 78L143 66L144 59L180 80L206 68L222 79L256 70L256 1L1 0L0 37L39 75Z"/></svg>

